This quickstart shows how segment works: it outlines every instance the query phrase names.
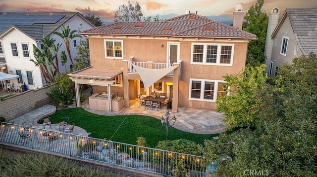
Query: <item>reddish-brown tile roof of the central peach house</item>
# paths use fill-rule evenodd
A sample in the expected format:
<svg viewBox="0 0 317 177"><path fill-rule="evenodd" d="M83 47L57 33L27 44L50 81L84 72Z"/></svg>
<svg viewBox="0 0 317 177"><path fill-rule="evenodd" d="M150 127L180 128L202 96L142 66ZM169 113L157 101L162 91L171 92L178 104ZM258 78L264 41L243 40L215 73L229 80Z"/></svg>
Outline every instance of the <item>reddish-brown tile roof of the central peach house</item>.
<svg viewBox="0 0 317 177"><path fill-rule="evenodd" d="M82 32L84 35L147 35L256 39L256 35L188 13L160 22L117 22Z"/></svg>

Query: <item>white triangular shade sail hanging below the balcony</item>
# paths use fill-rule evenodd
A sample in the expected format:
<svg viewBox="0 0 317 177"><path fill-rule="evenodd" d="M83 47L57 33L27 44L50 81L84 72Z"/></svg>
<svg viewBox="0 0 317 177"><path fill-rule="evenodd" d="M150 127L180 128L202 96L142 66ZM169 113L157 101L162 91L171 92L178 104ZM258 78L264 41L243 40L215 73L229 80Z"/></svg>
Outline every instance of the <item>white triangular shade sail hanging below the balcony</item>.
<svg viewBox="0 0 317 177"><path fill-rule="evenodd" d="M139 75L142 78L144 83L144 90L147 90L152 84L157 82L160 78L164 77L169 72L175 70L177 66L169 67L169 68L162 68L162 69L151 69L151 68L143 68L138 67L131 63L131 65L139 72Z"/></svg>

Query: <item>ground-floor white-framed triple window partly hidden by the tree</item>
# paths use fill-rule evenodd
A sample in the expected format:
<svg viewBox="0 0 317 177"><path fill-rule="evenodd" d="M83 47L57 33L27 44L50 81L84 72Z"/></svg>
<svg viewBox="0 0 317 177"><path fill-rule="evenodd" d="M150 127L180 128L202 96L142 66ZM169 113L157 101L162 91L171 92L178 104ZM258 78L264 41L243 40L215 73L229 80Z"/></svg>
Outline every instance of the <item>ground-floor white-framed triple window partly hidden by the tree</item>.
<svg viewBox="0 0 317 177"><path fill-rule="evenodd" d="M212 101L227 95L225 82L218 80L190 79L190 100Z"/></svg>

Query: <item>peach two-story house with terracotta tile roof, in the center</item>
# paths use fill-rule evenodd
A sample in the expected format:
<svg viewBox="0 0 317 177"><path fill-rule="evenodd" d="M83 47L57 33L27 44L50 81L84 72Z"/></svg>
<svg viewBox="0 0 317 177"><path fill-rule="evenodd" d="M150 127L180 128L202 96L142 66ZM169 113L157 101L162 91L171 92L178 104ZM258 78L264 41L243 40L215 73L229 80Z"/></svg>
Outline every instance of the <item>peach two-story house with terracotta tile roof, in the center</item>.
<svg viewBox="0 0 317 177"><path fill-rule="evenodd" d="M236 11L242 18L234 24L241 28L244 11ZM197 13L160 22L118 22L82 35L89 38L91 67L68 74L75 82L77 106L78 84L93 85L94 93L111 91L124 98L125 107L139 94L156 91L169 97L172 86L173 111L179 106L215 109L217 95L227 94L222 76L245 67L248 43L256 40L237 26Z"/></svg>

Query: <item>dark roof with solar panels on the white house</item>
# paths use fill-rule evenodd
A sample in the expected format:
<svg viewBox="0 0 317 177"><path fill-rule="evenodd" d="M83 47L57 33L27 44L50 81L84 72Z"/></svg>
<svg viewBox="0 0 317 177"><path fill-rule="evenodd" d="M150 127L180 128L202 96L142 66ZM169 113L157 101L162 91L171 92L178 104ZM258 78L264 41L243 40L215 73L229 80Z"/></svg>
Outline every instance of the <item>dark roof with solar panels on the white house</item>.
<svg viewBox="0 0 317 177"><path fill-rule="evenodd" d="M78 12L3 12L0 14L0 35L15 27L34 40L41 40L43 35L51 35L77 14L81 15Z"/></svg>

